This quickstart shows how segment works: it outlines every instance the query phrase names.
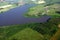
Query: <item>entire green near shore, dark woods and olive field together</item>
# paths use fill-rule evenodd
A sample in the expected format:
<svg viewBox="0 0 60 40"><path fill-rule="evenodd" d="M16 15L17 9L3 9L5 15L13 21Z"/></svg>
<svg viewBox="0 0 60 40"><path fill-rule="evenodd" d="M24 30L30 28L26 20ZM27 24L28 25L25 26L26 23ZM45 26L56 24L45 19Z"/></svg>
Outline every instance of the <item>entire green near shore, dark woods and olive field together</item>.
<svg viewBox="0 0 60 40"><path fill-rule="evenodd" d="M0 40L50 40L58 31L60 18L52 18L45 23L29 23L1 26Z"/></svg>

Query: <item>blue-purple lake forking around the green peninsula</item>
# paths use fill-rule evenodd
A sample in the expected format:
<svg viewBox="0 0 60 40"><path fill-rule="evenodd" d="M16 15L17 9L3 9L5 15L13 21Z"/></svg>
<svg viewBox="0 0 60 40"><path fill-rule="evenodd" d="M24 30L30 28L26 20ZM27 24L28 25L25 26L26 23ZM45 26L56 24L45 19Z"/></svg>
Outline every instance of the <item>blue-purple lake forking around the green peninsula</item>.
<svg viewBox="0 0 60 40"><path fill-rule="evenodd" d="M30 7L35 6L34 4L26 4L21 7L10 9L7 12L0 13L0 26L25 24L33 22L46 22L50 17L42 16L40 18L27 18L23 15L28 11Z"/></svg>

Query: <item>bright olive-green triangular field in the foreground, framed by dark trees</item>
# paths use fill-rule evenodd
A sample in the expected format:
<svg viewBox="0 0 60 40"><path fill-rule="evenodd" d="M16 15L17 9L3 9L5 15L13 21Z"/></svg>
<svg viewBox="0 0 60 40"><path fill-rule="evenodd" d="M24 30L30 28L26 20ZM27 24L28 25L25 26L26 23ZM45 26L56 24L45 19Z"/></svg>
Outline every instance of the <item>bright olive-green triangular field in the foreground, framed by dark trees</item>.
<svg viewBox="0 0 60 40"><path fill-rule="evenodd" d="M30 28L26 28L11 36L9 40L43 40L43 35Z"/></svg>

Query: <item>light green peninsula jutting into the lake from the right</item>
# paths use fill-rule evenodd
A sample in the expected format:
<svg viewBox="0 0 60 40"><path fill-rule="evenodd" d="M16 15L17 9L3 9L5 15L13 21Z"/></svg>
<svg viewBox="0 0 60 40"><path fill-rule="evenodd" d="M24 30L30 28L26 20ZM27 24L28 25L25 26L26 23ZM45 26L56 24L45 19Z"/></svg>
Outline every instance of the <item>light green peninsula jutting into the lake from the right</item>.
<svg viewBox="0 0 60 40"><path fill-rule="evenodd" d="M52 16L52 17L60 17L60 4L51 4L49 6L38 5L32 7L24 14L25 17L41 17L44 15Z"/></svg>

